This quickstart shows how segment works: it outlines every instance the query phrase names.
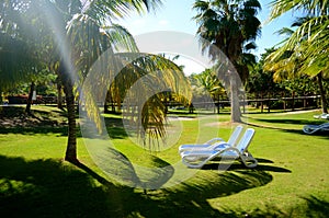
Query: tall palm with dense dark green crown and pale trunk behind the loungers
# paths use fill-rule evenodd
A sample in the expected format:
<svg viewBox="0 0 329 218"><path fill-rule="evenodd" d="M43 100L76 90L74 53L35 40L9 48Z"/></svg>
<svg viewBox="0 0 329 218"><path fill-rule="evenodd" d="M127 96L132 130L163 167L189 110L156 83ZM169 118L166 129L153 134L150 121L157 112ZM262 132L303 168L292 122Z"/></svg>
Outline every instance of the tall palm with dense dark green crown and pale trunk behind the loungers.
<svg viewBox="0 0 329 218"><path fill-rule="evenodd" d="M260 21L257 13L261 9L258 0L197 0L193 9L197 11L194 20L200 25L197 35L202 38L202 49L214 59L220 61L218 54L211 46L219 48L238 70L240 78L246 81L245 48L252 48L252 44L260 34ZM223 59L223 58L222 58ZM223 62L222 62L223 64ZM226 64L225 64L226 65ZM222 66L223 65L218 65ZM226 66L227 68L228 66ZM229 68L229 67L228 67ZM241 112L238 100L238 79L234 78L231 70L218 70L228 73L230 78L226 83L230 87L231 122L241 122Z"/></svg>

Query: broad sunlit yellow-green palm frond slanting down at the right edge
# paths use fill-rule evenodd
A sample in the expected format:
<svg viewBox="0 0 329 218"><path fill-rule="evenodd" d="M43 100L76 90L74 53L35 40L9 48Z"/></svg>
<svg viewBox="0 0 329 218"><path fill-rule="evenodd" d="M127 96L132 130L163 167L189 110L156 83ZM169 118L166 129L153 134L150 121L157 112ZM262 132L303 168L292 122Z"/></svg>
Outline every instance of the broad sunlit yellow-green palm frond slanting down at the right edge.
<svg viewBox="0 0 329 218"><path fill-rule="evenodd" d="M329 51L328 24L328 15L307 19L306 22L291 35L284 45L266 59L266 65L269 66L272 62L274 64L273 66L275 66L275 62L285 59L286 66L282 67L287 68L290 61L295 61L293 58L298 58L300 62L298 70L300 73L314 77L325 69L328 69L328 61L326 60ZM287 55L286 50L291 50L291 54Z"/></svg>

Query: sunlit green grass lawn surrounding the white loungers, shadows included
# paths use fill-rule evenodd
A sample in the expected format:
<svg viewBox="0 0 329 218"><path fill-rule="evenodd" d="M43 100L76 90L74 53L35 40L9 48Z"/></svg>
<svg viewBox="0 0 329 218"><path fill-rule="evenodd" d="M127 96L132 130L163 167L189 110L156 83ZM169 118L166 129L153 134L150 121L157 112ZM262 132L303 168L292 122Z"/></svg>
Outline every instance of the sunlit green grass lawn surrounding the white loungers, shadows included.
<svg viewBox="0 0 329 218"><path fill-rule="evenodd" d="M217 164L202 170L171 165L180 162L181 144L217 135L227 139L235 127L228 114L219 118L180 114L184 119L171 122L169 133L181 130L181 135L172 134L170 147L151 153L127 137L120 116L105 115L111 142L129 162L168 167L167 180L192 173L178 185L144 192L107 177L82 137L78 139L81 164L63 161L67 136L63 112L33 108L38 125L0 129L0 217L328 216L329 136L302 131L306 124L320 123L313 118L319 112L245 114L243 121L256 129L249 150L259 165L246 169L237 162L226 172L218 172ZM141 171L134 173L143 180Z"/></svg>

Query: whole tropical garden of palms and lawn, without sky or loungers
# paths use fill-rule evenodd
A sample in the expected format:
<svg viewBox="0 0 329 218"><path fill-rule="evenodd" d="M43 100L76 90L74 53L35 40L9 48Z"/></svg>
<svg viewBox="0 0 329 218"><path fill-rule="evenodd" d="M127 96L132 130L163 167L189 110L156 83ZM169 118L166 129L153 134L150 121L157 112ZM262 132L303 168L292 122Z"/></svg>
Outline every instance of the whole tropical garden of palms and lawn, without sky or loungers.
<svg viewBox="0 0 329 218"><path fill-rule="evenodd" d="M191 76L116 23L163 4L1 1L1 217L327 217L329 135L302 129L328 114L329 2L192 1L213 66ZM258 58L262 7L303 18ZM240 124L256 168L180 164Z"/></svg>

